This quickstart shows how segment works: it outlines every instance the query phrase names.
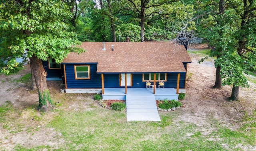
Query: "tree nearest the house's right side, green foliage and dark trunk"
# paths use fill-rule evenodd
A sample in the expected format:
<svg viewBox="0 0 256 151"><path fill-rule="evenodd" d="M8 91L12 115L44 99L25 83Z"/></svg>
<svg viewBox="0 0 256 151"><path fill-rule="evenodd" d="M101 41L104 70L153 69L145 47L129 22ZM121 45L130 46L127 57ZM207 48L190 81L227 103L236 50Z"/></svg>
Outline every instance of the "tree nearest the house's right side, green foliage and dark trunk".
<svg viewBox="0 0 256 151"><path fill-rule="evenodd" d="M212 1L212 3L216 3ZM208 3L206 3L208 5ZM233 48L235 41L234 30L236 30L236 23L232 11L228 10L228 14L225 14L225 1L219 0L218 8L213 5L210 9L211 15L207 19L202 20L200 35L208 40L208 45L211 46L209 56L216 57L217 59L227 49ZM207 58L207 57L206 57ZM202 58L198 63L204 61ZM221 67L216 66L216 78L213 88L222 88L222 79L220 75Z"/></svg>

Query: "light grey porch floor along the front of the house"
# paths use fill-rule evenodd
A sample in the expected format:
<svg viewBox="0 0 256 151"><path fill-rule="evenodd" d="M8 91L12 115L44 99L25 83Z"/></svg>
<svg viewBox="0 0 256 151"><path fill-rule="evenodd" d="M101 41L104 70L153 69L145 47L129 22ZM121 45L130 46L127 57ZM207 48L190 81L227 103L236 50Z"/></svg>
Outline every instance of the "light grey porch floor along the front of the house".
<svg viewBox="0 0 256 151"><path fill-rule="evenodd" d="M135 96L148 96L154 94L154 89L146 88L127 88L127 94L134 94ZM155 99L156 100L178 100L178 94L174 88L156 88ZM103 100L126 100L126 88L104 88L104 94L102 94Z"/></svg>

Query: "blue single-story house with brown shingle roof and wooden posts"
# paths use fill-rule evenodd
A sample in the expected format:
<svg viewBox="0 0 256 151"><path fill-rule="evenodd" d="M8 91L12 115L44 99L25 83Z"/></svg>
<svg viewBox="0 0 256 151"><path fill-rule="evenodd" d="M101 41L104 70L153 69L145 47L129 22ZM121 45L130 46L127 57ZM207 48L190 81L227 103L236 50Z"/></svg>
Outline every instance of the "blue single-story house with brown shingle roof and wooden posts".
<svg viewBox="0 0 256 151"><path fill-rule="evenodd" d="M158 83L175 94L185 92L186 73L191 59L184 45L174 42L83 42L84 53L70 53L59 65L49 58L43 62L47 79L62 79L66 93L101 92L108 88L146 88Z"/></svg>

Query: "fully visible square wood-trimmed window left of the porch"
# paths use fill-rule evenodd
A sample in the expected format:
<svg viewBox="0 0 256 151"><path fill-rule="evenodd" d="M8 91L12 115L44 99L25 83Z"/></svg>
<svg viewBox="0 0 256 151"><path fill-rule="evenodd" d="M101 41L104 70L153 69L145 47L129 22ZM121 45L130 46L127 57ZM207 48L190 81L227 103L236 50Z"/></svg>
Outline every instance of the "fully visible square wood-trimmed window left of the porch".
<svg viewBox="0 0 256 151"><path fill-rule="evenodd" d="M75 65L76 79L90 79L90 66L89 65Z"/></svg>

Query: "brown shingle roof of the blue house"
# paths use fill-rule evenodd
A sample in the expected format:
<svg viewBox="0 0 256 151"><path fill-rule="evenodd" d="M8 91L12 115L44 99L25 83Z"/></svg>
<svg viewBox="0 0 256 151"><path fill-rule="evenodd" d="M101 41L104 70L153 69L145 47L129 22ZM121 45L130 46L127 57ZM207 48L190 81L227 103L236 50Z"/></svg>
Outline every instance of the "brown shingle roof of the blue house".
<svg viewBox="0 0 256 151"><path fill-rule="evenodd" d="M114 45L112 51L111 45ZM98 63L97 73L185 72L191 63L183 45L173 42L83 42L86 52L68 54L63 63Z"/></svg>

